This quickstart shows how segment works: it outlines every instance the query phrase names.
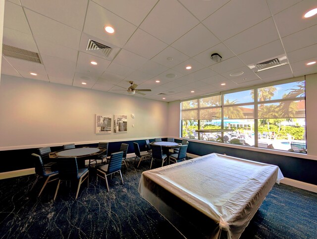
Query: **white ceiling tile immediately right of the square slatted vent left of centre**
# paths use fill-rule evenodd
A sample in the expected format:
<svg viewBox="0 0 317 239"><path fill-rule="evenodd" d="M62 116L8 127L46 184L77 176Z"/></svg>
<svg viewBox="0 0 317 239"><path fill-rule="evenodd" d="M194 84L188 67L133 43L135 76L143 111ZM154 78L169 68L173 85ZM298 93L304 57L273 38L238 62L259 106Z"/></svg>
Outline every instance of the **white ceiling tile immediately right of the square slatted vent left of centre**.
<svg viewBox="0 0 317 239"><path fill-rule="evenodd" d="M151 59L166 47L168 47L166 43L139 28L125 44L124 49Z"/></svg>

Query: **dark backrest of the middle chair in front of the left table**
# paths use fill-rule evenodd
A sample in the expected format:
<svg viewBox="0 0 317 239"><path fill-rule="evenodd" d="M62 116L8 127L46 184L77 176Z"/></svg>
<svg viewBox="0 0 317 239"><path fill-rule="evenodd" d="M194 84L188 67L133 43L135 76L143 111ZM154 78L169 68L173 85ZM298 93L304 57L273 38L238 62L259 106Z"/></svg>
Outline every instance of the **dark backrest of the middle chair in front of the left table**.
<svg viewBox="0 0 317 239"><path fill-rule="evenodd" d="M78 179L76 157L59 157L57 160L58 176L61 180Z"/></svg>

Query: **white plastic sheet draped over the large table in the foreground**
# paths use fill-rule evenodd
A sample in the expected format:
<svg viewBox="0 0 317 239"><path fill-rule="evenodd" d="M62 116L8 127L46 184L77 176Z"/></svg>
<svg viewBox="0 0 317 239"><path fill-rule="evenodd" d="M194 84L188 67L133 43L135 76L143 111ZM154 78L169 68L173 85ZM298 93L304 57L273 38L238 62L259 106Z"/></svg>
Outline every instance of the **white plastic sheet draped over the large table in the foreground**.
<svg viewBox="0 0 317 239"><path fill-rule="evenodd" d="M224 230L227 238L236 239L280 179L275 165L213 153L143 172L139 192L173 224L175 213L168 212L166 198L149 186L155 183L211 218L217 228L210 236L219 238Z"/></svg>

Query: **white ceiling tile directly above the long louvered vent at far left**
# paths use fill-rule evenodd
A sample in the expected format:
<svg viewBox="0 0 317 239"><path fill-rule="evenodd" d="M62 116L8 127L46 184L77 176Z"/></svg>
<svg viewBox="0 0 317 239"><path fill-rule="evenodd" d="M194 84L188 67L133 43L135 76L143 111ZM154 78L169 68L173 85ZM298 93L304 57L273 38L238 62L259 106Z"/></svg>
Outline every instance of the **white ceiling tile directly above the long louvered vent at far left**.
<svg viewBox="0 0 317 239"><path fill-rule="evenodd" d="M15 31L7 27L3 28L2 44L18 47L31 52L39 52L32 35Z"/></svg>

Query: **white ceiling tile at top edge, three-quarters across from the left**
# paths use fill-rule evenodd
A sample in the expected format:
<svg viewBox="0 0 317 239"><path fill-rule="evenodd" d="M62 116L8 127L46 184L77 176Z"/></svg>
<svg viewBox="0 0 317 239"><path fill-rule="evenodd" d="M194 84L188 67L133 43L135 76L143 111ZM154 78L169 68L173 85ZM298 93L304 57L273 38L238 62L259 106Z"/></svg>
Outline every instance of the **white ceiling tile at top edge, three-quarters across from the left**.
<svg viewBox="0 0 317 239"><path fill-rule="evenodd" d="M266 1L231 0L206 18L203 23L215 36L224 41L270 16Z"/></svg>

